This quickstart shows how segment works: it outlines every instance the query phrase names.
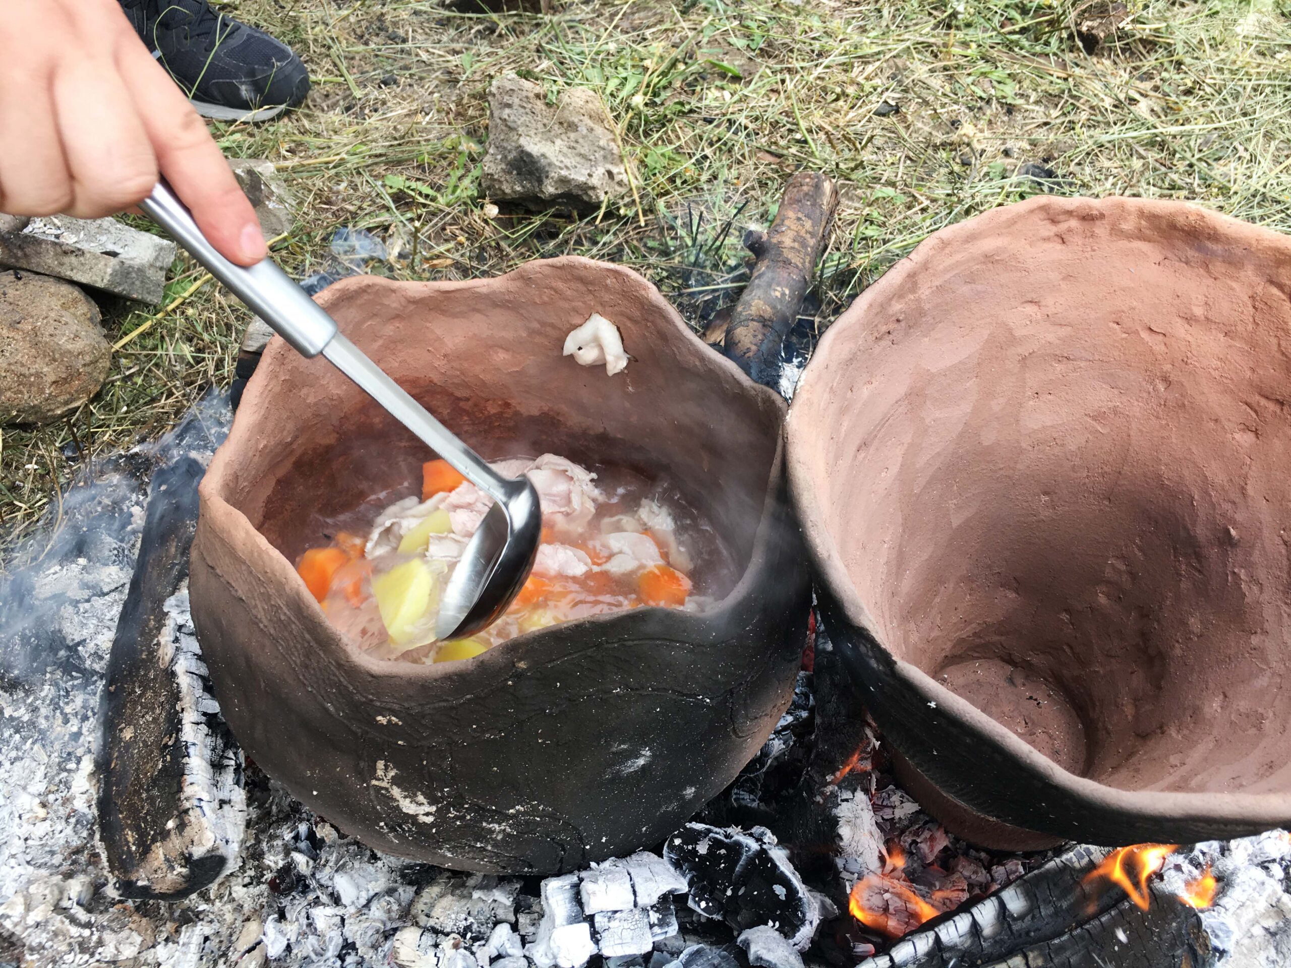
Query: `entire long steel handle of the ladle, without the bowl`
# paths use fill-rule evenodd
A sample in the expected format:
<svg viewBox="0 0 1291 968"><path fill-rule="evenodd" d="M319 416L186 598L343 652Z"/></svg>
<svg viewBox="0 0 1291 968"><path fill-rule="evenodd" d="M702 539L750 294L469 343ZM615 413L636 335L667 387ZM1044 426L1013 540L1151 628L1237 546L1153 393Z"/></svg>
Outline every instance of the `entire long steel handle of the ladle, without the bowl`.
<svg viewBox="0 0 1291 968"><path fill-rule="evenodd" d="M158 182L139 208L302 356L323 354L471 484L494 501L505 502L511 497L514 481L498 476L479 454L341 336L336 320L272 259L261 259L250 268L226 259L207 240L192 214L164 181Z"/></svg>

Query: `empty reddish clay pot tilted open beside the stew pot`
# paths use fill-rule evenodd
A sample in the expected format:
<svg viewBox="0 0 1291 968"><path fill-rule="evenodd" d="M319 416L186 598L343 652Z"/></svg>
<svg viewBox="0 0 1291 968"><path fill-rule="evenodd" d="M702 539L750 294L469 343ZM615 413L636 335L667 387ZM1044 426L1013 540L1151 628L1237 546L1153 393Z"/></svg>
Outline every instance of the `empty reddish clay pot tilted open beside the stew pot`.
<svg viewBox="0 0 1291 968"><path fill-rule="evenodd" d="M821 341L791 492L828 629L948 826L1291 821L1288 285L1282 235L1042 197L935 234Z"/></svg>

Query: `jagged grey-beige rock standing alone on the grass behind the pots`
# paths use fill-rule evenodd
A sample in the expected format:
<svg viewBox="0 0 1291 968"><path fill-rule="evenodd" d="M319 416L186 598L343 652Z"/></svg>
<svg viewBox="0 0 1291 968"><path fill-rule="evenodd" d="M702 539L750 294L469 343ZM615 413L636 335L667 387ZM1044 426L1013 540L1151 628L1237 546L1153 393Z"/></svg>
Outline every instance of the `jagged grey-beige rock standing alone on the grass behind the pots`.
<svg viewBox="0 0 1291 968"><path fill-rule="evenodd" d="M494 80L483 182L494 201L578 212L624 192L627 172L600 97L571 88L549 105L540 84L514 74Z"/></svg>

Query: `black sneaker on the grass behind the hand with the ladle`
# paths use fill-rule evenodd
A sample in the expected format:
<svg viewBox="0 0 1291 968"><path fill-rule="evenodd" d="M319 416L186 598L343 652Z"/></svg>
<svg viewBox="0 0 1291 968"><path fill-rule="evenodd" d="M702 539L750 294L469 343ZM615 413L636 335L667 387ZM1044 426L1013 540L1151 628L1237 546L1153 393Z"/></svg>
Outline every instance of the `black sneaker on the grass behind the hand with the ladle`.
<svg viewBox="0 0 1291 968"><path fill-rule="evenodd" d="M136 32L198 114L267 121L305 101L310 75L290 48L216 13L207 0L120 0Z"/></svg>

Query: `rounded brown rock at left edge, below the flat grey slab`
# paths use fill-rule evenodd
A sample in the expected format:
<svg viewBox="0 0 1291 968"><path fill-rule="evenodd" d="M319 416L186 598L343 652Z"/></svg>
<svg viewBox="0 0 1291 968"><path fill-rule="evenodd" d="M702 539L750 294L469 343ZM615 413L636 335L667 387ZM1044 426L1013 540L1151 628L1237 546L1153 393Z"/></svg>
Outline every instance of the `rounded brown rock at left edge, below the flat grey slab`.
<svg viewBox="0 0 1291 968"><path fill-rule="evenodd" d="M98 307L75 285L0 272L0 425L75 410L103 386L111 355Z"/></svg>

